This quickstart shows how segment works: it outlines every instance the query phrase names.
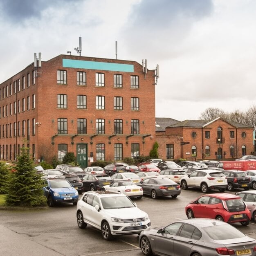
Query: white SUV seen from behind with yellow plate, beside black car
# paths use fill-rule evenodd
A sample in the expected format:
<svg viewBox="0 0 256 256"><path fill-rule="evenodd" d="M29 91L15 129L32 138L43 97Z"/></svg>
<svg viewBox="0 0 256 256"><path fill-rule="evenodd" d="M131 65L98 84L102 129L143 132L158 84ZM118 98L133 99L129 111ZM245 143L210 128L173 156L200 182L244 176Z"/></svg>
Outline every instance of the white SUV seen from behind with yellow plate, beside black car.
<svg viewBox="0 0 256 256"><path fill-rule="evenodd" d="M182 177L180 186L182 189L188 189L188 187L200 188L203 193L207 193L211 189L224 192L227 189L227 178L221 171L199 169L188 176Z"/></svg>

